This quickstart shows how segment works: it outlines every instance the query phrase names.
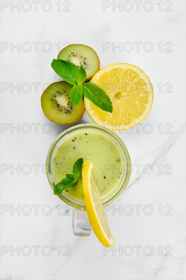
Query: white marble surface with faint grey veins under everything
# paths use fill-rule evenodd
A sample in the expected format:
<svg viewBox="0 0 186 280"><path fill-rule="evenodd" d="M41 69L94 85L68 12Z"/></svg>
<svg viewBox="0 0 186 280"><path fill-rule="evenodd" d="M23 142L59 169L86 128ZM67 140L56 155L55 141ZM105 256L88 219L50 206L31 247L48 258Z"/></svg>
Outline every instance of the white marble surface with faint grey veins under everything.
<svg viewBox="0 0 186 280"><path fill-rule="evenodd" d="M112 7L103 12L102 1L71 1L71 6L67 8L70 12L58 12L59 1L49 2L49 7L49 4L43 4L41 0L38 2L38 11L35 11L34 1L30 1L29 6L28 1L20 3L22 7L17 11L17 8L13 7L17 1L1 1L1 32L4 42L1 53L1 77L4 82L4 92L1 94L1 162L4 173L1 184L1 278L185 279L185 2L168 1L166 4L162 1L151 1L151 12L145 11L150 9L150 4L144 1L140 4L139 12L137 4L133 1L130 1L133 5L130 12L124 10L129 10L129 6L124 6L121 12L118 8L113 12ZM131 5L130 3L122 2L124 5ZM106 4L109 5L109 2ZM169 8L171 4L172 7ZM61 2L61 9L67 5L68 2ZM42 7L51 10L46 12ZM29 9L30 11L25 11ZM165 12L165 9L172 11ZM17 45L18 42L21 45L20 51L16 48L11 50L11 45ZM33 42L40 42L38 51L35 50L36 43ZM46 52L48 45L45 42L49 42L51 46L49 52ZM58 42L61 43L61 47L64 42L90 45L98 52L101 67L117 62L135 64L147 73L154 86L153 106L139 127L139 133L137 127L134 127L130 134L118 133L129 149L133 165L141 165L139 174L136 165L133 166L134 172L128 189L112 206L112 211L108 211L110 227L115 236L115 247L106 252L94 233L88 238L73 235L72 209L67 213L69 215L66 215L65 211L68 208L64 208L65 204L53 195L47 177L42 172L48 148L57 136L59 128L45 118L40 105L42 85L60 80L50 67L52 59L56 58L58 53ZM109 48L103 52L103 42L115 42L115 45L122 42L122 46L131 42L133 50L119 52L115 49L113 52L112 48ZM139 52L134 42L142 42ZM146 42L153 45L151 52L144 51L143 46ZM163 44L162 52L157 45L160 42ZM169 47L169 43L164 45L166 42L171 42L172 47L169 50L172 52L165 52ZM27 47L31 49L25 52ZM20 92L15 88L11 89L17 83L20 83ZM30 88L24 83L29 83ZM38 83L38 91L35 90L35 83ZM162 93L158 86L160 83L163 84ZM164 86L165 83L172 84L172 93L165 91L169 87L168 84ZM85 114L80 123L88 122L91 121ZM11 127L18 124L20 131L11 131ZM30 133L25 133L28 129L25 124L29 124ZM38 133L34 124L40 124ZM145 127L149 128L146 124L153 127L152 133L143 131ZM48 128L51 131L47 134L45 131ZM63 131L65 127L60 129ZM18 164L20 174L13 170ZM145 170L146 164L153 165L153 171L149 175L147 173L150 173L150 170ZM169 171L170 166L172 167ZM26 175L26 172L29 174ZM23 207L24 205L28 205L29 208ZM35 214L33 205L40 205L38 215ZM50 208L44 207L45 205L49 205ZM126 205L130 205L131 208ZM134 205L141 205L139 215ZM153 210L151 215L145 214L150 210L146 205L150 205ZM20 213L11 213L11 209L17 207L20 207ZM121 215L118 211L114 215L113 207L121 207ZM48 209L51 213L46 215ZM61 213L58 213L59 209ZM133 213L127 215L126 212L130 209ZM26 215L28 210L31 213ZM40 246L38 256L33 247L36 245ZM142 246L139 254L137 245ZM20 256L13 251L18 246ZM44 246L48 246L48 249ZM61 249L60 256L57 254L57 246ZM146 256L149 254L149 248L145 246L151 246L151 250L153 249L151 256ZM120 253L116 251L118 248ZM170 248L171 256L167 256ZM45 256L49 249L50 256ZM69 249L69 253L66 253ZM133 250L131 256L127 256L130 249ZM29 256L25 256L26 254Z"/></svg>

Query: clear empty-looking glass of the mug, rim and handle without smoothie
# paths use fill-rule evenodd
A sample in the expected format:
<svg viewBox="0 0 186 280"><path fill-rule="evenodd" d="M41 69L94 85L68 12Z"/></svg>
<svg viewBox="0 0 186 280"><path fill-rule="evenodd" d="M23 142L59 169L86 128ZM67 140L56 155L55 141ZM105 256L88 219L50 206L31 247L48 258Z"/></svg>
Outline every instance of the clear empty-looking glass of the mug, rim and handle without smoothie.
<svg viewBox="0 0 186 280"><path fill-rule="evenodd" d="M73 126L69 129L65 130L64 132L62 132L61 134L59 134L57 136L57 138L54 140L54 142L52 143L52 145L49 148L47 160L46 160L46 171L47 171L47 177L48 177L50 186L53 189L55 184L57 183L57 182L55 182L55 178L54 178L53 172L52 172L52 160L53 160L55 151L61 145L61 143L63 143L63 141L65 141L65 139L68 138L69 135L71 135L72 133L75 134L78 130L81 130L81 131L84 130L85 132L88 130L89 131L94 130L99 133L101 132L103 134L106 134L107 137L109 137L112 142L117 144L119 152L121 153L121 156L123 157L123 159L125 161L125 172L123 171L121 174L121 179L120 179L119 185L117 186L115 191L113 191L110 195L108 195L108 197L103 199L103 205L109 205L109 204L113 203L121 195L121 193L126 189L126 187L128 185L130 175L131 175L131 159L130 159L128 149L125 146L125 144L121 141L121 139L115 133L113 133L111 130L103 129L99 125L95 125L95 124L76 125L76 126ZM97 145L97 144L95 144L95 145ZM72 217L74 234L79 235L79 236L90 235L91 226L89 224L88 216L86 213L85 203L69 197L66 192L62 192L61 194L58 195L58 197L59 197L59 199L63 200L66 204L75 208L75 209L73 209L73 217Z"/></svg>

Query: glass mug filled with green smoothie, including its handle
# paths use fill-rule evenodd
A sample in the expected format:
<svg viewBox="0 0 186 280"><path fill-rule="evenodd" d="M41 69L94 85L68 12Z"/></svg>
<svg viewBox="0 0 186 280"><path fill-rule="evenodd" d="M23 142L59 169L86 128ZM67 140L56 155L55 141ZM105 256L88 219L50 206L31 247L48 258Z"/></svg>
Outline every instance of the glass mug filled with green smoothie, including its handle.
<svg viewBox="0 0 186 280"><path fill-rule="evenodd" d="M84 162L92 161L104 205L113 203L126 189L131 174L131 159L125 144L112 131L95 124L80 124L59 134L50 146L46 160L47 177L52 189L66 174L72 173L78 158L83 158ZM73 207L74 234L90 235L82 180L58 197Z"/></svg>

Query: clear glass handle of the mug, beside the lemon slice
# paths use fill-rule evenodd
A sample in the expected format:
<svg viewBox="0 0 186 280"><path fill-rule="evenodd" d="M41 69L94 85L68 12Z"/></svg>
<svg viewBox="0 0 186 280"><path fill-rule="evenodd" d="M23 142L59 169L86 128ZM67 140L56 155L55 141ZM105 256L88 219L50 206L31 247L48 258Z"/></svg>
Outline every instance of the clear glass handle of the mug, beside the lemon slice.
<svg viewBox="0 0 186 280"><path fill-rule="evenodd" d="M72 228L74 235L89 236L91 226L86 211L76 208L72 209Z"/></svg>

